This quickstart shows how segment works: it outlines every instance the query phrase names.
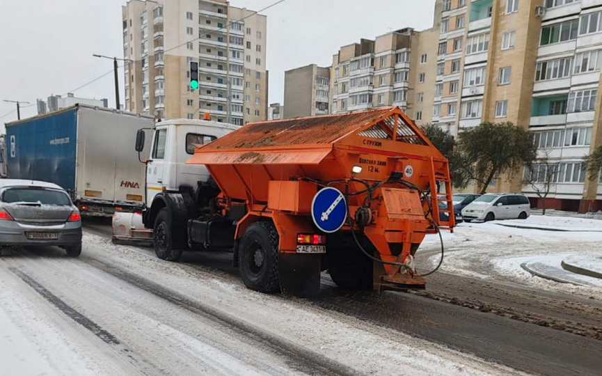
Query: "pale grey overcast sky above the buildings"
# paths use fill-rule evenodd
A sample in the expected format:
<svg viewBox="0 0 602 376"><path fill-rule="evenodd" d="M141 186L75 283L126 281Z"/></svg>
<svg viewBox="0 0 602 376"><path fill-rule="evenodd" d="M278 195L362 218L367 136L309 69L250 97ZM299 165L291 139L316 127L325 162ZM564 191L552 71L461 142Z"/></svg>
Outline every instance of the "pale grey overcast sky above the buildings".
<svg viewBox="0 0 602 376"><path fill-rule="evenodd" d="M260 10L276 0L231 0ZM22 118L36 113L35 99L66 94L111 71L112 62L92 54L123 57L121 6L125 0L0 0L0 131L17 119L15 104L31 102ZM267 15L269 102L283 102L284 72L310 63L329 66L338 47L391 30L428 29L435 0L285 0ZM123 72L120 93L123 103ZM113 75L74 94L109 98ZM5 116L6 115L6 116Z"/></svg>

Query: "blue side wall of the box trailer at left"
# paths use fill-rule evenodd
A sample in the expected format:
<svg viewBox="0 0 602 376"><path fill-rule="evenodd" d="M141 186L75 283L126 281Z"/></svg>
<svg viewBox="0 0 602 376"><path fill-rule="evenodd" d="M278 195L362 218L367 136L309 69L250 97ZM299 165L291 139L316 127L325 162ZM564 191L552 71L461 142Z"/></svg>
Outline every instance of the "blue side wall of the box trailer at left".
<svg viewBox="0 0 602 376"><path fill-rule="evenodd" d="M75 192L77 108L6 127L8 178L53 182Z"/></svg>

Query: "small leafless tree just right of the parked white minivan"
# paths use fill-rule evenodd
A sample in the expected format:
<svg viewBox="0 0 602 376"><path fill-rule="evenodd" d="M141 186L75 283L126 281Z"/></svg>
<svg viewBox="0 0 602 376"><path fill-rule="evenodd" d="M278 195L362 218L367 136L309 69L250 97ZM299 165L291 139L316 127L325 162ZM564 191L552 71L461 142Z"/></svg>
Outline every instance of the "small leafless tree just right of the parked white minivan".
<svg viewBox="0 0 602 376"><path fill-rule="evenodd" d="M533 164L525 166L523 185L530 185L531 189L541 198L541 214L546 214L546 198L550 194L552 185L558 178L560 164L550 159L550 150L543 150L543 157L537 158Z"/></svg>

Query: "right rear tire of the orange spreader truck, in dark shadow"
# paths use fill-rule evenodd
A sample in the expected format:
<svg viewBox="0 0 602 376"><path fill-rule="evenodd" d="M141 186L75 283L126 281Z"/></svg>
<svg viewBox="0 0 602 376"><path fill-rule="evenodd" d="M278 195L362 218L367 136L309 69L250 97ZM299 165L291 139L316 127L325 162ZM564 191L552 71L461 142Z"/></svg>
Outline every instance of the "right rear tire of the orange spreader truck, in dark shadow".
<svg viewBox="0 0 602 376"><path fill-rule="evenodd" d="M363 248L374 249L367 240L360 240ZM351 233L328 240L326 244L328 273L333 282L344 290L368 290L372 288L372 260L358 249Z"/></svg>

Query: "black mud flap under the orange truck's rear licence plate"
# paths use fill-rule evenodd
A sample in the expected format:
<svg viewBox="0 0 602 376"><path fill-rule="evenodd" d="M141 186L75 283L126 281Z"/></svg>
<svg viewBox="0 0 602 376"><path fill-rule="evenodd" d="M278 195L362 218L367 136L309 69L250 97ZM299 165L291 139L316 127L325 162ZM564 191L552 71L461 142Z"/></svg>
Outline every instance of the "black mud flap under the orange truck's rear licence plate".
<svg viewBox="0 0 602 376"><path fill-rule="evenodd" d="M297 297L317 297L322 253L278 253L280 290Z"/></svg>

